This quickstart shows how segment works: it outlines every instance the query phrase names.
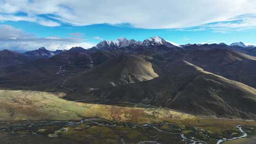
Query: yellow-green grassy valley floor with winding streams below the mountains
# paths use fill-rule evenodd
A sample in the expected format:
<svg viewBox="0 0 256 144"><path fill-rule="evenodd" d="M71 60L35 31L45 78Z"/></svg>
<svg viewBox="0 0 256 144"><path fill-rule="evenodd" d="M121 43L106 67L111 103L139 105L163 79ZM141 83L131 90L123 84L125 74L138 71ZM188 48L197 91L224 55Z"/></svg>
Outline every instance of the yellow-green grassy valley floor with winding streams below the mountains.
<svg viewBox="0 0 256 144"><path fill-rule="evenodd" d="M222 144L255 141L256 122L171 109L80 103L64 93L0 90L1 144Z"/></svg>

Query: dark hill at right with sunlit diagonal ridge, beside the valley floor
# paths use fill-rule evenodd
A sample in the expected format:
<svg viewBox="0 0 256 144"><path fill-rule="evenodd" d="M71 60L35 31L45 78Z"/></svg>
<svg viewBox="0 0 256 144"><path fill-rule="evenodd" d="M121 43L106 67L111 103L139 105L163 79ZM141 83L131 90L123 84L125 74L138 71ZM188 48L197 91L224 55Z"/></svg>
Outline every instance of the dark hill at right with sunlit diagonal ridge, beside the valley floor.
<svg viewBox="0 0 256 144"><path fill-rule="evenodd" d="M174 108L218 117L256 117L256 90L243 83L205 72L186 61L169 63L165 76L93 92L119 102ZM246 105L245 105L246 103Z"/></svg>

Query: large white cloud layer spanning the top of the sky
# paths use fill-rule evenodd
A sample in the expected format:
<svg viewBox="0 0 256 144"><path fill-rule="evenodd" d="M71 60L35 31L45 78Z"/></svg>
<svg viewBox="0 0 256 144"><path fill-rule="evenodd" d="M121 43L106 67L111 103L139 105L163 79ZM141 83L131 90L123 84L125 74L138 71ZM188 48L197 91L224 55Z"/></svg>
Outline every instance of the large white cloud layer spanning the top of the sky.
<svg viewBox="0 0 256 144"><path fill-rule="evenodd" d="M22 11L36 19L47 15L75 26L128 23L139 28L182 28L256 14L255 0L2 0L0 5L0 13L14 16ZM241 27L255 25L255 19L244 19ZM57 26L51 22L41 24Z"/></svg>

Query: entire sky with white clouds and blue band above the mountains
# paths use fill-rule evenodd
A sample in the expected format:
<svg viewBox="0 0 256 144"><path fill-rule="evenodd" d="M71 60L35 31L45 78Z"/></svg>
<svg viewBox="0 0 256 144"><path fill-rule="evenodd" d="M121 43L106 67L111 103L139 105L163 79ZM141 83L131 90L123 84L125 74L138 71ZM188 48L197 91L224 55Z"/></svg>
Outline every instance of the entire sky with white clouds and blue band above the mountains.
<svg viewBox="0 0 256 144"><path fill-rule="evenodd" d="M153 36L180 45L240 41L256 45L254 0L124 3L0 0L0 49L90 48L103 39L143 41Z"/></svg>

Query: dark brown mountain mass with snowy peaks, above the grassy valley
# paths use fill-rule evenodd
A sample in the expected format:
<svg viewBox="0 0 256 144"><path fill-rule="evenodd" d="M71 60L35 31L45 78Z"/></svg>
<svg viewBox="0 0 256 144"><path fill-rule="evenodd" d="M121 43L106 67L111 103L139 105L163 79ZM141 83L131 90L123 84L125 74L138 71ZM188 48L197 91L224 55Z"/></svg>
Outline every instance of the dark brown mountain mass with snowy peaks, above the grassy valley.
<svg viewBox="0 0 256 144"><path fill-rule="evenodd" d="M165 42L153 37L136 45L119 39L87 50L74 47L0 69L0 88L61 91L65 99L142 103L209 117L256 118L256 57L243 54L247 47L181 48Z"/></svg>

